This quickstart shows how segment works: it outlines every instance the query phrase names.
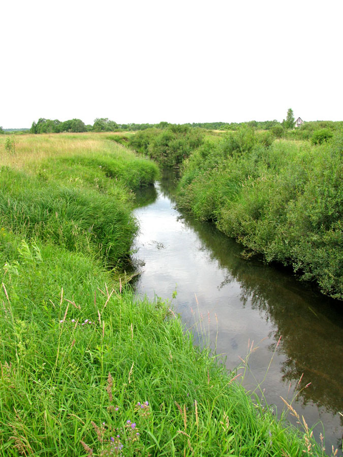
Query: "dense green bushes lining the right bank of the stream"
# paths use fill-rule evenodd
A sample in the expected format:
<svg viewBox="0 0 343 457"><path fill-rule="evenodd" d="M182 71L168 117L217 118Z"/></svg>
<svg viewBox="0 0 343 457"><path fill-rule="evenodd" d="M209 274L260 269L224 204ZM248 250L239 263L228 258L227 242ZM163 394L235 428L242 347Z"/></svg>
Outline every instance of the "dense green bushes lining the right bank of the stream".
<svg viewBox="0 0 343 457"><path fill-rule="evenodd" d="M268 145L241 129L207 142L183 164L178 204L214 221L247 257L290 265L343 300L342 141Z"/></svg>

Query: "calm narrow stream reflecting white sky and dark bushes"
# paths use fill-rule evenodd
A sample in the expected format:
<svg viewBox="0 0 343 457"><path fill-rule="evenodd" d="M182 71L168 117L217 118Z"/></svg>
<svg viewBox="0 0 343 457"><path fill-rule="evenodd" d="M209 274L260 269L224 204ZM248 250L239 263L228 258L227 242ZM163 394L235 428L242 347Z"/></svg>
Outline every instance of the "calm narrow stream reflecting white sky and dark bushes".
<svg viewBox="0 0 343 457"><path fill-rule="evenodd" d="M174 174L164 172L137 197L137 293L171 299L176 290L174 311L225 355L228 369L254 342L242 384L278 415L285 409L280 396L296 396L292 405L309 427L317 424L316 439L324 426L327 453L333 445L342 455L342 304L290 272L244 260L242 248L212 224L180 214L174 188Z"/></svg>

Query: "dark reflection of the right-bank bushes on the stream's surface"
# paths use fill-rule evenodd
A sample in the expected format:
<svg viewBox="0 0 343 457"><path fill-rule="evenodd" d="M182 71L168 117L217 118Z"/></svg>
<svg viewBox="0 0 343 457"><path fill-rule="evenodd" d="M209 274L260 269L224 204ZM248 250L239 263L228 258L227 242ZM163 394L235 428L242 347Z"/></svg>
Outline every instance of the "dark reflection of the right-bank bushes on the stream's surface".
<svg viewBox="0 0 343 457"><path fill-rule="evenodd" d="M242 306L248 303L261 317L269 321L273 331L273 352L282 335L278 351L283 362L282 379L302 384L311 382L299 394L305 405L309 400L336 413L343 410L343 377L340 365L343 353L343 327L340 303L326 298L306 284L282 270L265 266L255 260L240 257L242 248L210 224L183 217L186 225L195 230L211 258L227 269L225 280L216 285L222 289L233 281L240 283Z"/></svg>

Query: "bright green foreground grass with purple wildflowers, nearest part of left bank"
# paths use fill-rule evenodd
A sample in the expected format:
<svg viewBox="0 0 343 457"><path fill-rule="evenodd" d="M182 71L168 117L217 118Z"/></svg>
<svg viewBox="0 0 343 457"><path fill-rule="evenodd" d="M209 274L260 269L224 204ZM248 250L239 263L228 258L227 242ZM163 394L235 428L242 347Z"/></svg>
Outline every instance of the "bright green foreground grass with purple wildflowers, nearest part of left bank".
<svg viewBox="0 0 343 457"><path fill-rule="evenodd" d="M3 455L323 455L96 260L2 231L0 263Z"/></svg>

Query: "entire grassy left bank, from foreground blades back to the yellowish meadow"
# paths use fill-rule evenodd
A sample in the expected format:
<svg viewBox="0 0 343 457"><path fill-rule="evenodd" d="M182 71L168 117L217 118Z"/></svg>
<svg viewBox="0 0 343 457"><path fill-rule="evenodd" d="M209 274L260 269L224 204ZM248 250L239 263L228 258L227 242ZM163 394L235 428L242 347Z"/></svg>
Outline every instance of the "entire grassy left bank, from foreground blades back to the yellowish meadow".
<svg viewBox="0 0 343 457"><path fill-rule="evenodd" d="M0 454L325 455L303 418L302 432L277 420L195 347L170 304L123 285L128 183L158 170L80 138L0 149Z"/></svg>

